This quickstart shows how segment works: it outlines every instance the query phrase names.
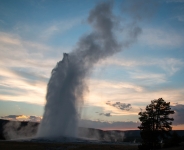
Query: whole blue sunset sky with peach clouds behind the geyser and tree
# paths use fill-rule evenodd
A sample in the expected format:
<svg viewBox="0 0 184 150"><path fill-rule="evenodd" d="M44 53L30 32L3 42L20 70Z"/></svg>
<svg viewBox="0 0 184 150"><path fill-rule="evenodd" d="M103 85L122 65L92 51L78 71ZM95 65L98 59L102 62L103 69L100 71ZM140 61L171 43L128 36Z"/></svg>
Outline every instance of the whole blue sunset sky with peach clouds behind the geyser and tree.
<svg viewBox="0 0 184 150"><path fill-rule="evenodd" d="M51 70L63 53L92 32L87 17L100 0L0 0L0 116L40 121ZM80 126L137 129L138 113L163 98L184 130L184 0L113 0L124 42L130 46L99 61L87 78Z"/></svg>

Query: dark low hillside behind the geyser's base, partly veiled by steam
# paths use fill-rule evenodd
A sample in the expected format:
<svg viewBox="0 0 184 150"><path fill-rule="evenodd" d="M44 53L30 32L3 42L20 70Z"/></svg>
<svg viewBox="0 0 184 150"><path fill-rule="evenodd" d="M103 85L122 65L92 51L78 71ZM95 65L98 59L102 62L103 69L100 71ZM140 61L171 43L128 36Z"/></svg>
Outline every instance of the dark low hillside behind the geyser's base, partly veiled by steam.
<svg viewBox="0 0 184 150"><path fill-rule="evenodd" d="M39 123L28 121L8 121L0 119L0 140L34 137ZM176 130L180 136L184 136L184 130ZM79 137L112 142L140 142L140 131L129 130L100 130L79 127Z"/></svg>

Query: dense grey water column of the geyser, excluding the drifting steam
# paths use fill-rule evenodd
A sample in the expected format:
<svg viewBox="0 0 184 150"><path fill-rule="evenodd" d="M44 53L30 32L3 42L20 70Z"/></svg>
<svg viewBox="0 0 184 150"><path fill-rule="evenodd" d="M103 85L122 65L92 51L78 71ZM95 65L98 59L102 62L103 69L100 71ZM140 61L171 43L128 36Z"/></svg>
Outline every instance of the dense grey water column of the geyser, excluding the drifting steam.
<svg viewBox="0 0 184 150"><path fill-rule="evenodd" d="M47 87L47 104L38 130L41 137L75 136L77 127L76 97L70 82L68 54L57 63Z"/></svg>

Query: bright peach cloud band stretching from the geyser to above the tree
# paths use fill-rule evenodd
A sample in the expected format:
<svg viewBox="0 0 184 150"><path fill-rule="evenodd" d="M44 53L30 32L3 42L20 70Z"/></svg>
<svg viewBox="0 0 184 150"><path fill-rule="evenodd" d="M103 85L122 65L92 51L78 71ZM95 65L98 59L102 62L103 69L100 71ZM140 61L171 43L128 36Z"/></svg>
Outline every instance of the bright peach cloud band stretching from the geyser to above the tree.
<svg viewBox="0 0 184 150"><path fill-rule="evenodd" d="M154 83L154 82L153 82ZM142 86L141 86L142 84ZM162 97L168 102L178 102L183 104L184 89L172 87L158 87L157 85L144 85L143 83L128 83L109 80L90 80L89 93L85 95L84 106L97 106L103 109L103 112L111 112L112 116L119 115L137 115L140 108L144 109L152 99ZM162 84L161 84L162 85ZM155 88L156 87L156 88ZM116 102L131 104L129 111L117 109L111 104Z"/></svg>

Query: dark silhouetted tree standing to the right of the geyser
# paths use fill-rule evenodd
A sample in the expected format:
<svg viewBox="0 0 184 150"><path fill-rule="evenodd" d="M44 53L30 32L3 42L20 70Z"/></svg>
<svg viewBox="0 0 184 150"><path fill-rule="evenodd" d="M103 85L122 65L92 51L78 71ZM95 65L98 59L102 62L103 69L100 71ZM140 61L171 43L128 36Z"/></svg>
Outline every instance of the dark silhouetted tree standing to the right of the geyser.
<svg viewBox="0 0 184 150"><path fill-rule="evenodd" d="M165 102L162 98L152 100L151 104L146 106L144 112L139 112L141 125L138 127L141 132L142 145L139 149L159 148L172 130L173 118L169 118L174 111L170 108L170 102Z"/></svg>

